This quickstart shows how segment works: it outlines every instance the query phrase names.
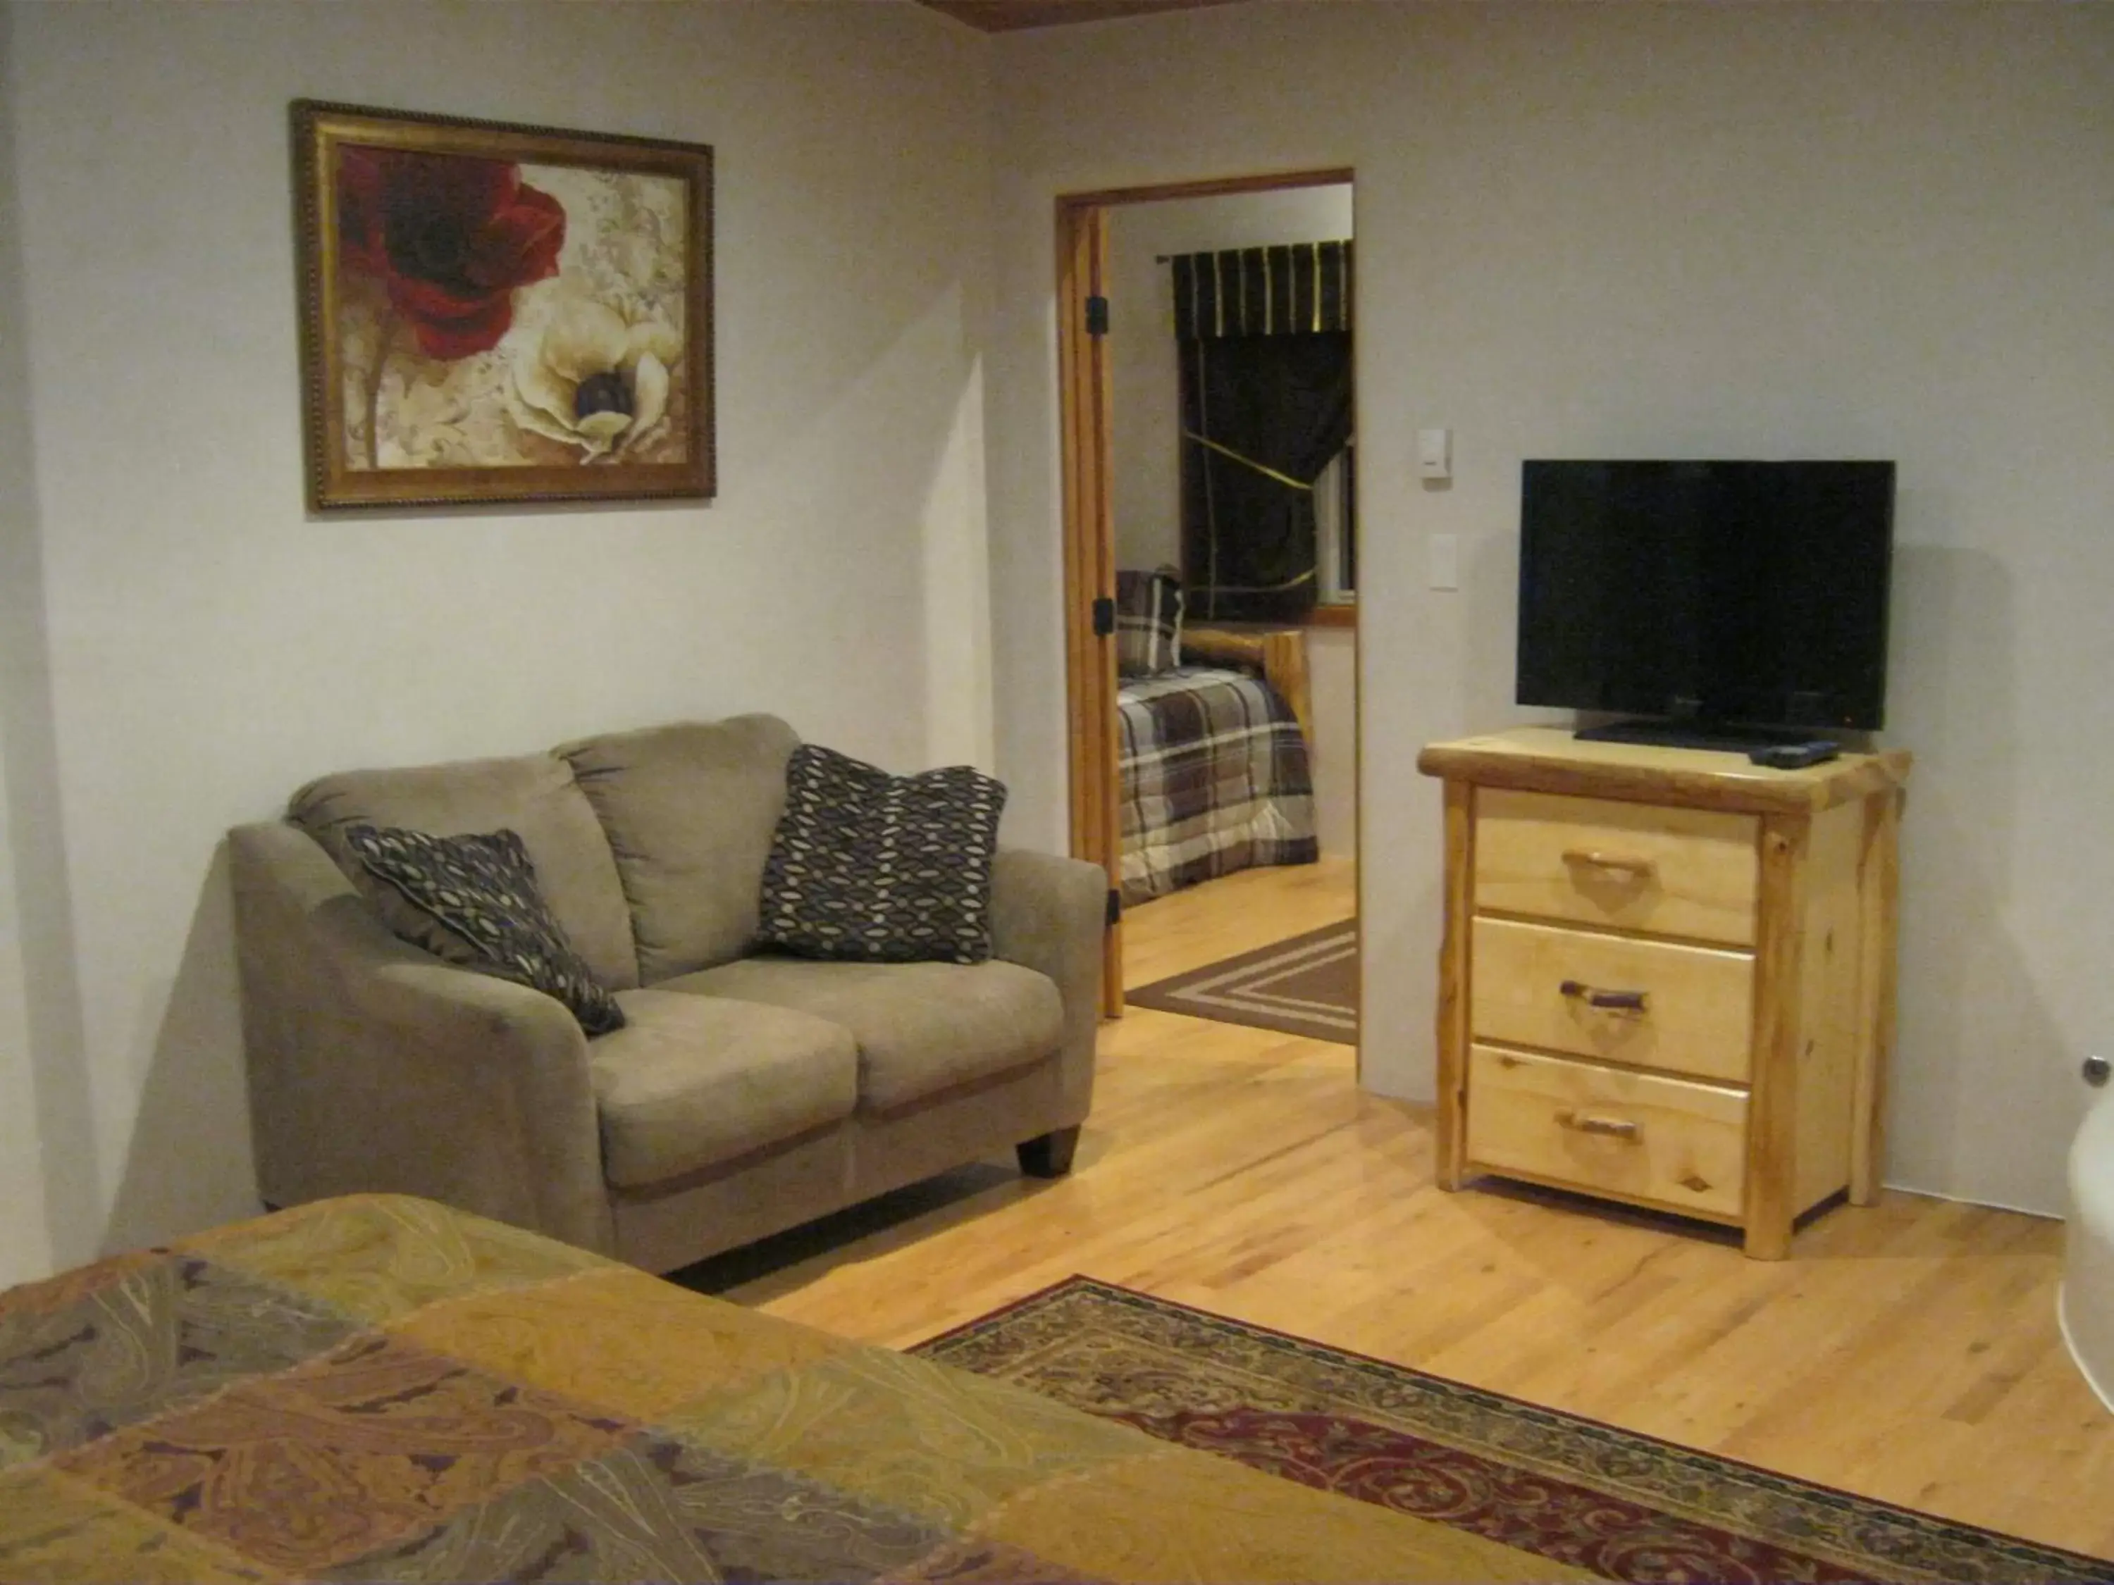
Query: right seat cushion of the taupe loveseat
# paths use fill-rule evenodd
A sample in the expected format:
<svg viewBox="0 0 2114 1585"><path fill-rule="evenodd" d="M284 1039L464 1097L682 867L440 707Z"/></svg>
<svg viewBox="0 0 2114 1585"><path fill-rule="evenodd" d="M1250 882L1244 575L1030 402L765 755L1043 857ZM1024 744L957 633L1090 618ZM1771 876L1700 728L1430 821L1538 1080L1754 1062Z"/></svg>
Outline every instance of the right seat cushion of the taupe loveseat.
<svg viewBox="0 0 2114 1585"><path fill-rule="evenodd" d="M765 953L683 974L662 989L765 1002L843 1025L858 1040L858 1105L867 1112L892 1112L1023 1067L1063 1040L1057 985L996 957L827 964Z"/></svg>

